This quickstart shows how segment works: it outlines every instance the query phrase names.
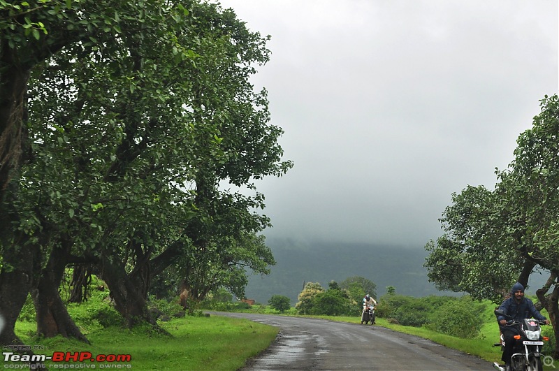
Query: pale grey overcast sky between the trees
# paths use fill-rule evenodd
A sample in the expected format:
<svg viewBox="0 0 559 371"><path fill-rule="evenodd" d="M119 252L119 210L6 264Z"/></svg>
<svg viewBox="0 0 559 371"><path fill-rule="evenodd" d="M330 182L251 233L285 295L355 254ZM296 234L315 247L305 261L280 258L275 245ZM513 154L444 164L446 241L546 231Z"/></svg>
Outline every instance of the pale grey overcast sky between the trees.
<svg viewBox="0 0 559 371"><path fill-rule="evenodd" d="M269 238L422 248L558 92L557 0L220 3L272 36L253 82L295 166L256 183Z"/></svg>

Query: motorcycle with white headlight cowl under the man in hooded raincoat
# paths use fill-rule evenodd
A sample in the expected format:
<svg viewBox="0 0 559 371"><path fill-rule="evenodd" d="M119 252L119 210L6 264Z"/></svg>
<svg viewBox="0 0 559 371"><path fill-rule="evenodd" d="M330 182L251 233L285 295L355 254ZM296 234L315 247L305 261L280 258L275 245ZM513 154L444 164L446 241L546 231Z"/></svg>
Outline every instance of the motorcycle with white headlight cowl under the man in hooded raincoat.
<svg viewBox="0 0 559 371"><path fill-rule="evenodd" d="M544 340L548 337L542 336L541 325L544 321L537 319L523 319L515 321L512 317L505 314L502 310L495 310L496 316L502 316L507 319L506 326L514 326L518 330L518 335L514 335L514 351L511 356L511 371L542 371L542 355L540 350L544 346ZM500 335L500 342L494 344L495 347L501 347L504 351L504 338ZM497 362L493 363L493 367L500 371L505 371L504 366Z"/></svg>

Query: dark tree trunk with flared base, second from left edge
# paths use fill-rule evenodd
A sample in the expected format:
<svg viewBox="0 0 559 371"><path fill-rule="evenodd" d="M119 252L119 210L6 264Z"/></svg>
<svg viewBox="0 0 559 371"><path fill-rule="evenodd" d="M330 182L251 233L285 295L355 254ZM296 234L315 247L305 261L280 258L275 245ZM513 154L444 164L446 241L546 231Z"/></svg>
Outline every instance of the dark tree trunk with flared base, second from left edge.
<svg viewBox="0 0 559 371"><path fill-rule="evenodd" d="M75 337L89 344L68 314L58 292L71 247L72 242L68 239L63 240L60 246L53 247L37 288L32 292L37 314L37 333L45 337Z"/></svg>

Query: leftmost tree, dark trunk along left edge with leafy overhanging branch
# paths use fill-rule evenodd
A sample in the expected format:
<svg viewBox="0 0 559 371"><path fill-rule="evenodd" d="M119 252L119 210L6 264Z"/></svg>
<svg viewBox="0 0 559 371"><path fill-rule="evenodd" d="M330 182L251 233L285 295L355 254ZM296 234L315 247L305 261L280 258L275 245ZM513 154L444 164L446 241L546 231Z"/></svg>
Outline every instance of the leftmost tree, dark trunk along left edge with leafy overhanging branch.
<svg viewBox="0 0 559 371"><path fill-rule="evenodd" d="M18 197L20 166L32 160L26 109L31 71L68 45L79 44L83 50L92 51L94 44L114 40L124 20L132 19L141 7L134 1L110 3L84 0L66 1L65 5L56 1L0 4L0 225L6 228L0 235L0 313L7 322L0 335L2 344L20 344L13 325L33 285L33 270L41 265L37 242L43 241L29 238L24 228L17 227L28 220L13 205ZM17 290L13 289L15 282L19 284Z"/></svg>

